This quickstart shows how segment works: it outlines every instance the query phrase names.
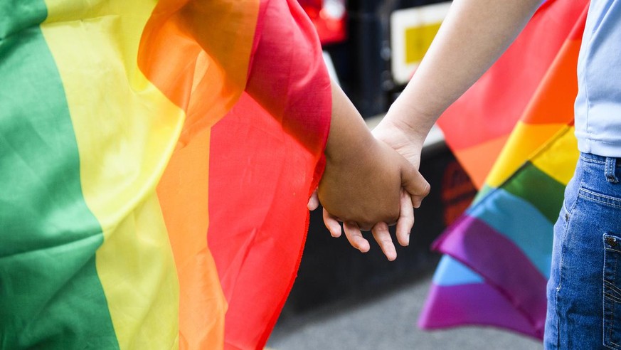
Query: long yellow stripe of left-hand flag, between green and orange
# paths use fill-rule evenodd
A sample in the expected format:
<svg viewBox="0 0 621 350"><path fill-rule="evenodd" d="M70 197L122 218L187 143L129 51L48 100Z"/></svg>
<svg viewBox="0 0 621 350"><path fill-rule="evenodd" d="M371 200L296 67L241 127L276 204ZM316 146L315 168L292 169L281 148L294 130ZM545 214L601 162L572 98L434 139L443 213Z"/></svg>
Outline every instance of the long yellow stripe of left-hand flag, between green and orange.
<svg viewBox="0 0 621 350"><path fill-rule="evenodd" d="M184 113L137 67L155 1L46 0L85 201L104 243L97 272L121 349L178 345L179 281L155 194Z"/></svg>

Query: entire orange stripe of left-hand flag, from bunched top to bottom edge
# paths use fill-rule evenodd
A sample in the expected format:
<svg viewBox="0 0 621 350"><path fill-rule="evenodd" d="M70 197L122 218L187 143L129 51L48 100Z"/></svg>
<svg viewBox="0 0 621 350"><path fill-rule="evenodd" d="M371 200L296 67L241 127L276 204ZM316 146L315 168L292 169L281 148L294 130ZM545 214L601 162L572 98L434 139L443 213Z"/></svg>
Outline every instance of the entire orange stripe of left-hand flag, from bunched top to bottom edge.
<svg viewBox="0 0 621 350"><path fill-rule="evenodd" d="M142 72L186 110L157 187L179 275L182 349L223 347L226 301L206 240L210 130L245 88L258 9L256 0L160 1L141 41Z"/></svg>

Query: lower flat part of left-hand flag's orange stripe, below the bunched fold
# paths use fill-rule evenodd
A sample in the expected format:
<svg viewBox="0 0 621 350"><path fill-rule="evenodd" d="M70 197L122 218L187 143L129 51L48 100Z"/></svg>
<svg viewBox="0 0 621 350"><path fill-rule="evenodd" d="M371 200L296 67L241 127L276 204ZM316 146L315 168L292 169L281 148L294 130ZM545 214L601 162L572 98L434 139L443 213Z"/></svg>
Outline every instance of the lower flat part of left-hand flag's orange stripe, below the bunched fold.
<svg viewBox="0 0 621 350"><path fill-rule="evenodd" d="M157 188L179 275L181 349L224 344L226 301L206 240L209 141L206 129L177 149Z"/></svg>

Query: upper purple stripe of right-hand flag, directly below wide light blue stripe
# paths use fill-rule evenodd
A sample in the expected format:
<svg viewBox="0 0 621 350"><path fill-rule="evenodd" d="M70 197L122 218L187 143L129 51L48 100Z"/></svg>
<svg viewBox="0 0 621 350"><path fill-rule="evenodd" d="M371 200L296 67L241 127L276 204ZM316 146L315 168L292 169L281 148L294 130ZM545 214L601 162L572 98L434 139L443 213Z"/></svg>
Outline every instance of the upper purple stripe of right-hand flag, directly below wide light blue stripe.
<svg viewBox="0 0 621 350"><path fill-rule="evenodd" d="M516 245L486 223L462 216L433 249L482 275L535 329L546 322L546 277Z"/></svg>

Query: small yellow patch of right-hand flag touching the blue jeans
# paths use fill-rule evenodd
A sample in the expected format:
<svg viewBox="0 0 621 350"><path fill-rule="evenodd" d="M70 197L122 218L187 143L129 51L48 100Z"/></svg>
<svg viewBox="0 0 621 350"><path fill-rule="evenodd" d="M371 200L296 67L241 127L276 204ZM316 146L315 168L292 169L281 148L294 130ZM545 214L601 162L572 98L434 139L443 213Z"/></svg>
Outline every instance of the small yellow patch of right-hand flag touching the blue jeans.
<svg viewBox="0 0 621 350"><path fill-rule="evenodd" d="M569 183L580 156L574 131L574 127L566 127L545 152L531 160L537 168L563 185Z"/></svg>

